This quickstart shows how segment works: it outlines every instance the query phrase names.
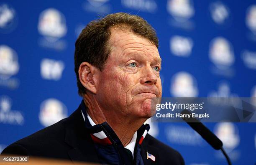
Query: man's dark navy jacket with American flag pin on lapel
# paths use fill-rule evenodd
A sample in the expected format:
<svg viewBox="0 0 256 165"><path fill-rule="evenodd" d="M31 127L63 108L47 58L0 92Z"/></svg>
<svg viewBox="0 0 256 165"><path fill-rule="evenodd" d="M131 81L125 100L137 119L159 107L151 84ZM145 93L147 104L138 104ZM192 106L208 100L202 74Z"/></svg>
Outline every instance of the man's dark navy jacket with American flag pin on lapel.
<svg viewBox="0 0 256 165"><path fill-rule="evenodd" d="M82 109L84 110L83 102L68 118L14 142L6 147L2 154L128 165L124 147L113 129L106 122L91 127L87 117L84 122ZM148 125L143 124L137 131L133 164L184 165L184 160L179 152L151 135L146 135L142 141L142 135L148 129ZM111 144L102 145L93 140L92 133L101 130L107 133ZM114 153L112 155L109 154L111 150ZM148 153L155 157L155 161L148 158ZM113 162L108 162L111 159Z"/></svg>

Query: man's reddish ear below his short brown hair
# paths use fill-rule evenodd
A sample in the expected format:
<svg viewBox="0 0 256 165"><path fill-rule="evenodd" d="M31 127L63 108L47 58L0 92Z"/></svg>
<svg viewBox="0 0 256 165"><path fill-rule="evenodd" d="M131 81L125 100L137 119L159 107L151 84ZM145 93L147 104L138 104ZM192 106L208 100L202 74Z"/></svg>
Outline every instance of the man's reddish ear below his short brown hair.
<svg viewBox="0 0 256 165"><path fill-rule="evenodd" d="M78 70L81 84L94 94L97 93L96 82L98 80L96 75L99 71L99 69L88 62L82 62Z"/></svg>

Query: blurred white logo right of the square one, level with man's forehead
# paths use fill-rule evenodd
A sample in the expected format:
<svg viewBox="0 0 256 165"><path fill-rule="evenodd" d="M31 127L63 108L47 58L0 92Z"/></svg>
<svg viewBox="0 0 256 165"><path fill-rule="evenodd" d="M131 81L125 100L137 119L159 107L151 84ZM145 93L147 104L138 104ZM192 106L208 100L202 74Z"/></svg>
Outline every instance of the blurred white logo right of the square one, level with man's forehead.
<svg viewBox="0 0 256 165"><path fill-rule="evenodd" d="M235 62L233 46L223 37L217 37L211 41L209 56L219 69L230 67Z"/></svg>

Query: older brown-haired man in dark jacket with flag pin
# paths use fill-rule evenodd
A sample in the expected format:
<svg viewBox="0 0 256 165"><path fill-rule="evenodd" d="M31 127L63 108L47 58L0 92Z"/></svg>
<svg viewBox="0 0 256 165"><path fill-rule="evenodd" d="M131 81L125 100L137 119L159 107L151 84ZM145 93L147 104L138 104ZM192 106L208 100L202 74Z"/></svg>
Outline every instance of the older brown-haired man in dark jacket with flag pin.
<svg viewBox="0 0 256 165"><path fill-rule="evenodd" d="M3 153L101 164L182 165L181 155L143 123L161 97L154 29L136 15L90 22L76 41L75 72L83 101L68 118L8 146Z"/></svg>

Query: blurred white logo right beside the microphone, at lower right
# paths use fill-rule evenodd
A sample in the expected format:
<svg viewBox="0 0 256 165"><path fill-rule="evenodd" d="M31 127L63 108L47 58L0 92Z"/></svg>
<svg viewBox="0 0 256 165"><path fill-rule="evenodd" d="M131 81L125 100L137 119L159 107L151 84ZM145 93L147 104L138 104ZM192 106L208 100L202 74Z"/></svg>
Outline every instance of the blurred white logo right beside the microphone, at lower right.
<svg viewBox="0 0 256 165"><path fill-rule="evenodd" d="M215 126L215 135L223 142L227 152L234 150L240 143L238 128L233 123L219 123Z"/></svg>

